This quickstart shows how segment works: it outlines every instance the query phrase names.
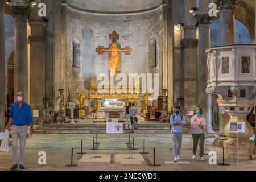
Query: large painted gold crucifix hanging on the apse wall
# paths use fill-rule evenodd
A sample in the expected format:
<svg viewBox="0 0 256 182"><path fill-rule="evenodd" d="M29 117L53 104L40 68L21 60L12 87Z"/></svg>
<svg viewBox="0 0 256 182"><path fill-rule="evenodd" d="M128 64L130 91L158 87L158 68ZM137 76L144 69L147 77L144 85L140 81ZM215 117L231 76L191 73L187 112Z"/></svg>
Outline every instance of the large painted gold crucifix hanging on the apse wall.
<svg viewBox="0 0 256 182"><path fill-rule="evenodd" d="M117 75L118 70L121 69L121 53L125 53L126 55L130 55L133 52L133 49L130 46L126 46L125 48L118 48L117 40L119 40L119 34L116 31L113 31L112 34L109 35L109 39L112 40L112 44L110 48L104 48L104 46L98 46L96 48L96 52L99 55L104 53L109 54L109 71L110 76Z"/></svg>

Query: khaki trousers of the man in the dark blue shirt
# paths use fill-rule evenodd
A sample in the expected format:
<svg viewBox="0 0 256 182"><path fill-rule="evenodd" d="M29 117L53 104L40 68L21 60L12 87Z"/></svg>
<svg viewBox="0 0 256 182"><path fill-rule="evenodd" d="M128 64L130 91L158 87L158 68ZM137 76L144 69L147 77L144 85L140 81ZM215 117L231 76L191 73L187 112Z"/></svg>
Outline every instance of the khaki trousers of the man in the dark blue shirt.
<svg viewBox="0 0 256 182"><path fill-rule="evenodd" d="M19 139L19 164L24 165L25 147L27 139L27 128L28 126L11 126L11 137L13 138L13 164L17 164L17 150L18 150L18 139Z"/></svg>

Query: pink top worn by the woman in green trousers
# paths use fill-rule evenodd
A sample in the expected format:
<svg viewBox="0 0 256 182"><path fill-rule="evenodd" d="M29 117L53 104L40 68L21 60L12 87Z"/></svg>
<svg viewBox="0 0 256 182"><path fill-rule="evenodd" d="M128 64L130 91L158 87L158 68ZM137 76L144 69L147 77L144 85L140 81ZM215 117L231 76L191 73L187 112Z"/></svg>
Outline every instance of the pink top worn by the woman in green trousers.
<svg viewBox="0 0 256 182"><path fill-rule="evenodd" d="M204 130L207 131L207 121L203 115L197 117L194 115L190 121L190 133L191 134L201 134L204 133L204 130L201 128L203 126Z"/></svg>

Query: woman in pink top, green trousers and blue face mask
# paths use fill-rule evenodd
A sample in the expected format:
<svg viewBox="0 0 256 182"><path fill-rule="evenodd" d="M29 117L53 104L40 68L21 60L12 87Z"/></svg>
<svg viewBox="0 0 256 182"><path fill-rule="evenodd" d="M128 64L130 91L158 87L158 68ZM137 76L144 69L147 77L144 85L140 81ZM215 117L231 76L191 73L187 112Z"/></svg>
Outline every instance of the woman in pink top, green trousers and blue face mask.
<svg viewBox="0 0 256 182"><path fill-rule="evenodd" d="M199 141L200 146L200 160L204 160L204 131L207 132L207 121L202 115L201 107L196 107L194 111L194 116L191 118L190 122L190 134L193 138L193 156L192 159L196 159L196 149Z"/></svg>

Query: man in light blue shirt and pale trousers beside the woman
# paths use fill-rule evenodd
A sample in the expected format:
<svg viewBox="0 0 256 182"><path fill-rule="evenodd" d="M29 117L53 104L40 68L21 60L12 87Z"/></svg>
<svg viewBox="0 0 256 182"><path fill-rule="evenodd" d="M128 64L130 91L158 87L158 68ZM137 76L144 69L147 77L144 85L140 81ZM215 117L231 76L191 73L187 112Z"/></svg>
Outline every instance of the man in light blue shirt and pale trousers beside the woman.
<svg viewBox="0 0 256 182"><path fill-rule="evenodd" d="M180 149L182 143L182 129L186 125L186 119L183 114L180 113L180 106L174 107L175 112L171 114L170 125L172 126L172 152L174 154L174 162L180 160Z"/></svg>

